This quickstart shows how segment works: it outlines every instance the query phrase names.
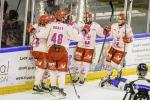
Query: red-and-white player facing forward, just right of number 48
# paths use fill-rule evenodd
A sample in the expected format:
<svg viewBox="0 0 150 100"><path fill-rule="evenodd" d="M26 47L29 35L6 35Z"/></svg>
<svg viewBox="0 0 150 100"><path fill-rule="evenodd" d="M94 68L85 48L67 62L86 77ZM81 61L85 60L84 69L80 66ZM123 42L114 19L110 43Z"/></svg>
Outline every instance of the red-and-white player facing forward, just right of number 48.
<svg viewBox="0 0 150 100"><path fill-rule="evenodd" d="M87 72L89 70L89 66L92 63L92 58L94 55L94 49L96 45L96 35L102 36L103 28L93 22L92 13L85 12L83 28L79 29L80 34L82 35L84 42L78 42L76 51L75 51L75 78L73 80L74 83L79 82L80 85L85 83L85 79L87 76Z"/></svg>

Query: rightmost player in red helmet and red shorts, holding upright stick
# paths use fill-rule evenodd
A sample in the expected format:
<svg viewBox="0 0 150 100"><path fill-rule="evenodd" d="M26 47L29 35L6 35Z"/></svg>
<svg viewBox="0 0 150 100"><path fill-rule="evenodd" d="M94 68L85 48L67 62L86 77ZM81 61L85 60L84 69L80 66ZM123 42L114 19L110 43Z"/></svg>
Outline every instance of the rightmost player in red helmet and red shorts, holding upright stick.
<svg viewBox="0 0 150 100"><path fill-rule="evenodd" d="M120 63L127 53L128 45L133 41L132 28L125 21L126 15L121 12L118 16L118 23L114 23L104 29L104 34L112 37L113 40L106 57L105 69L108 71L108 77L102 79L101 85L103 85L103 81L106 81L112 75L113 69L118 71L117 77L121 75Z"/></svg>

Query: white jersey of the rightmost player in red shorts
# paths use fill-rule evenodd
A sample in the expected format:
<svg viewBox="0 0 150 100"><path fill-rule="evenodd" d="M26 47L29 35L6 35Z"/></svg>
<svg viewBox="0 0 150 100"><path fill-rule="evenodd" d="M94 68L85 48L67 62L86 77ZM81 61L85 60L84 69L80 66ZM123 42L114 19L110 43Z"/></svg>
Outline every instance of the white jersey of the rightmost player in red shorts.
<svg viewBox="0 0 150 100"><path fill-rule="evenodd" d="M125 36L125 34L133 38L132 28L128 24L120 27L118 23L114 23L111 26L110 33L110 37L113 38L112 47L120 51L124 51L124 45L125 49L127 49L128 47L128 44L125 44L123 42L123 37Z"/></svg>

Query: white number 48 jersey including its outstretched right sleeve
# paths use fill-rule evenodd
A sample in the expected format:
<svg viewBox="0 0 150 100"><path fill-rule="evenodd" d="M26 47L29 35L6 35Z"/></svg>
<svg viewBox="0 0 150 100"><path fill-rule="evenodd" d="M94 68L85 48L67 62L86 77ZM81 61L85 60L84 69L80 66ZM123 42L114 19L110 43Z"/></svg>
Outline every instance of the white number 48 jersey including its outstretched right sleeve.
<svg viewBox="0 0 150 100"><path fill-rule="evenodd" d="M57 44L69 48L70 40L82 41L82 37L78 34L78 31L70 25L61 22L52 22L49 29L48 47Z"/></svg>

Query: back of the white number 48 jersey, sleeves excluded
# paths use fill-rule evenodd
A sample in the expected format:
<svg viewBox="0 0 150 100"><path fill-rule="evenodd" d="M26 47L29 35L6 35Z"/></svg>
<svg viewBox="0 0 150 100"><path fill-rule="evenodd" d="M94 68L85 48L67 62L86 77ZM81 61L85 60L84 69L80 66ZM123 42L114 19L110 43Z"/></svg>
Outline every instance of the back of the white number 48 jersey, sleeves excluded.
<svg viewBox="0 0 150 100"><path fill-rule="evenodd" d="M62 22L51 23L47 45L52 46L53 44L57 44L68 47L70 41L68 30L71 31L71 27L69 27L67 24Z"/></svg>

